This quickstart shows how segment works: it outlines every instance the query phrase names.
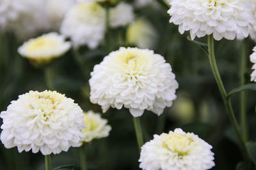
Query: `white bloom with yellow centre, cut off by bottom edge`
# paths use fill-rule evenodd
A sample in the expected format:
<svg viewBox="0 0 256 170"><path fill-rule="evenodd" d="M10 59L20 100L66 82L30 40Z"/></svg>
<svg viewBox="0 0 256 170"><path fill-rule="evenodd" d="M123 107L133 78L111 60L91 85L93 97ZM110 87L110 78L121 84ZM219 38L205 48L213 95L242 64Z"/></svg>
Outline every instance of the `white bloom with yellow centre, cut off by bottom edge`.
<svg viewBox="0 0 256 170"><path fill-rule="evenodd" d="M175 129L154 135L141 147L140 168L145 170L206 170L214 164L212 146L193 133Z"/></svg>

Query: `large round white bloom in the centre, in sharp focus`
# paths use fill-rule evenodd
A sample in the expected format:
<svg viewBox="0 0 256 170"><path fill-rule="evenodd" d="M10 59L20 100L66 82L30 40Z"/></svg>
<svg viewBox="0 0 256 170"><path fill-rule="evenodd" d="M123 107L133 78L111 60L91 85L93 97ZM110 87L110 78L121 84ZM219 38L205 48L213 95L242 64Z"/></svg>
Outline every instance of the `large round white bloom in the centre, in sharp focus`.
<svg viewBox="0 0 256 170"><path fill-rule="evenodd" d="M178 83L172 67L152 50L121 47L109 53L91 73L90 101L102 106L129 108L134 117L145 109L161 115L172 106Z"/></svg>

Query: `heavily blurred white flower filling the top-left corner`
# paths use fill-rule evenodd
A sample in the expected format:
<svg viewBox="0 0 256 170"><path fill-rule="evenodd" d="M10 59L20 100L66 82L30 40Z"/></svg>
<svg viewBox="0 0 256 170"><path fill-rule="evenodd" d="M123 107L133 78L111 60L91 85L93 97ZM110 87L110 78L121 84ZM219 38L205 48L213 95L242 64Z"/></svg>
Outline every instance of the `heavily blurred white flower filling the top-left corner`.
<svg viewBox="0 0 256 170"><path fill-rule="evenodd" d="M19 39L31 38L47 27L44 8L45 1L0 1L0 28L13 31Z"/></svg>

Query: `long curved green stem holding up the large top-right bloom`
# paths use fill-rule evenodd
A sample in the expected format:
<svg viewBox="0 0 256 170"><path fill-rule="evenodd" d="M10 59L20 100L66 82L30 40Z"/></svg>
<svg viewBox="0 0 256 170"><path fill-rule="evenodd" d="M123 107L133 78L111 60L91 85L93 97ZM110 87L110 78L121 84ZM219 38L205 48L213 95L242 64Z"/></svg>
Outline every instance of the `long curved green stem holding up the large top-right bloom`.
<svg viewBox="0 0 256 170"><path fill-rule="evenodd" d="M224 85L222 83L222 80L221 80L221 77L220 77L220 73L218 71L218 67L217 67L217 64L216 64L215 56L214 56L214 43L213 43L212 35L208 36L208 51L209 51L209 61L211 63L212 73L214 74L215 80L216 80L216 82L218 84L218 87L220 89L221 96L223 98L224 104L225 104L225 106L227 108L227 111L228 111L228 116L230 117L230 120L232 122L232 125L233 125L235 131L236 131L239 142L241 143L242 150L243 150L243 153L244 153L244 157L245 157L246 160L249 160L249 155L248 155L248 151L247 151L247 148L246 148L245 141L244 141L244 139L241 135L241 132L239 131L239 126L238 126L234 111L232 109L230 99L227 100L227 92L225 90L225 87L224 87Z"/></svg>

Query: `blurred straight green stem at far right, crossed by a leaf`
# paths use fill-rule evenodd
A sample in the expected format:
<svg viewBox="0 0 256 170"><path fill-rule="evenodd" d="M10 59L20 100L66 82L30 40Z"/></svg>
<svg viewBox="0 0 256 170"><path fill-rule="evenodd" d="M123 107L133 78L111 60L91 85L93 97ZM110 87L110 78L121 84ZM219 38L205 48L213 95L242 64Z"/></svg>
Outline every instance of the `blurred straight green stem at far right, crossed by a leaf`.
<svg viewBox="0 0 256 170"><path fill-rule="evenodd" d="M245 73L246 73L246 48L247 48L247 39L243 41L243 53L242 53L242 62L241 62L241 85L245 85ZM242 124L242 134L243 139L246 142L248 139L247 135L247 115L246 115L246 92L241 92L241 124Z"/></svg>

